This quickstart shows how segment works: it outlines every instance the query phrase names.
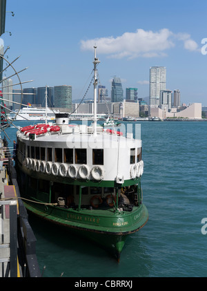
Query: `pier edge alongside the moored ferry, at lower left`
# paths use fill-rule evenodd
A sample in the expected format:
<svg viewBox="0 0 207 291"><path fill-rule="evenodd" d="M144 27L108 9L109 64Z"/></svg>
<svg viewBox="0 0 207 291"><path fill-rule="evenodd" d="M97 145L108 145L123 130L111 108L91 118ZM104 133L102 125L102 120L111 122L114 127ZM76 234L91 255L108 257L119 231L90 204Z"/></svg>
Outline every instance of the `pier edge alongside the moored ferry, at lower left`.
<svg viewBox="0 0 207 291"><path fill-rule="evenodd" d="M40 277L36 238L28 222L6 140L0 140L0 277Z"/></svg>

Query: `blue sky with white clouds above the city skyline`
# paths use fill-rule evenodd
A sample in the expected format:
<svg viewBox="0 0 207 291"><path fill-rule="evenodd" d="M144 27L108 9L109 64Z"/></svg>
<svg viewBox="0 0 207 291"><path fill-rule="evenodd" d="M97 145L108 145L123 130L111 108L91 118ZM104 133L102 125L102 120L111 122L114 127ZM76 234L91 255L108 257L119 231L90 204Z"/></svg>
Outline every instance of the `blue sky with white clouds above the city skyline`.
<svg viewBox="0 0 207 291"><path fill-rule="evenodd" d="M149 95L150 66L166 66L166 88L181 91L181 102L207 106L207 1L182 0L7 0L6 31L15 68L28 66L26 87L72 86L83 97L97 45L101 85L110 92L116 75L122 86ZM207 44L207 39L206 39ZM86 97L92 97L91 91Z"/></svg>

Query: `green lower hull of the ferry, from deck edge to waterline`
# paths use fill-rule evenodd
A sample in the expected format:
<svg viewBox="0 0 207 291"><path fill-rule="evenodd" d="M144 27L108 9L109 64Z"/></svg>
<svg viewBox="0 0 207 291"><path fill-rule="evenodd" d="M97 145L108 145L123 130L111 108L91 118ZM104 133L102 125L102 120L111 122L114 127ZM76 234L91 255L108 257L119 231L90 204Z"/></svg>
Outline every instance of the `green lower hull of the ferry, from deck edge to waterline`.
<svg viewBox="0 0 207 291"><path fill-rule="evenodd" d="M99 245L102 247L104 250L106 250L109 254L115 257L117 261L119 262L120 256L121 256L121 251L123 250L124 244L126 242L126 239L129 234L132 234L134 232L139 231L141 227L144 227L144 225L148 221L148 210L146 209L145 205L141 206L141 218L139 218L139 221L132 227L128 227L130 230L124 230L120 229L118 227L97 227L95 225L83 225L81 223L75 223L72 220L68 220L68 217L73 217L74 219L76 218L79 220L90 220L91 217L92 219L100 219L99 214L95 216L88 216L86 211L81 211L81 212L75 212L75 211L67 211L67 214L65 216L63 215L63 212L61 211L62 209L56 209L57 212L54 216L52 212L54 212L54 207L33 207L31 204L25 203L26 209L28 209L29 212L32 212L32 214L39 216L39 218L43 218L44 220L47 220L50 223L54 223L56 225L59 225L63 227L64 229L67 228L67 230L70 230L70 232L74 233L77 236L81 236L86 238L88 241L92 241L93 243ZM34 203L32 203L34 204ZM57 207L59 208L59 207ZM140 209L139 209L140 210ZM99 210L97 210L99 212ZM58 214L59 213L59 214ZM136 216L138 216L138 212L135 210L135 212L132 212L130 216L128 217L128 220L125 222L129 222L132 219L135 219ZM116 216L115 218L110 218L110 221L120 221L120 216ZM107 220L107 218L105 218ZM117 223L112 223L112 224L119 224Z"/></svg>

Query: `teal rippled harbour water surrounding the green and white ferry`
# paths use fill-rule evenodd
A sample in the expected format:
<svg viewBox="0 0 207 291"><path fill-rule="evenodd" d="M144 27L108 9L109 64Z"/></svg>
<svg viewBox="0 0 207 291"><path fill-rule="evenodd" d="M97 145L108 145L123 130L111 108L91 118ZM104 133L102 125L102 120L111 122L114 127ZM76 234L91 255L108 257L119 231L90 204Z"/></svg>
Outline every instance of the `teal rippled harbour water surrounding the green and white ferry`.
<svg viewBox="0 0 207 291"><path fill-rule="evenodd" d="M32 122L14 122L26 126ZM130 235L119 263L70 232L30 216L44 277L203 277L207 275L207 122L141 124L141 185L148 223ZM136 122L131 122L135 129ZM11 142L17 129L6 129ZM135 131L134 131L135 132ZM3 133L1 133L3 136ZM206 228L207 229L207 228Z"/></svg>

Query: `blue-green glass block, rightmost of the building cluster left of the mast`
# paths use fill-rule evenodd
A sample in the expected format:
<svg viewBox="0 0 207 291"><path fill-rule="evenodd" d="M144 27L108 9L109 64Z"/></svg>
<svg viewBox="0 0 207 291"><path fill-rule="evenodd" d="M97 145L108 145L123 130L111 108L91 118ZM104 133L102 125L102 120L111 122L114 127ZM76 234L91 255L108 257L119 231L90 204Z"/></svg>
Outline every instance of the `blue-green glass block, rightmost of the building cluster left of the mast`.
<svg viewBox="0 0 207 291"><path fill-rule="evenodd" d="M72 86L54 87L55 107L72 110Z"/></svg>

